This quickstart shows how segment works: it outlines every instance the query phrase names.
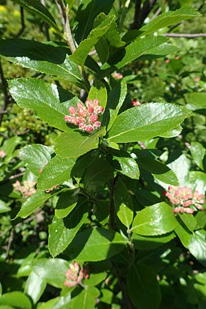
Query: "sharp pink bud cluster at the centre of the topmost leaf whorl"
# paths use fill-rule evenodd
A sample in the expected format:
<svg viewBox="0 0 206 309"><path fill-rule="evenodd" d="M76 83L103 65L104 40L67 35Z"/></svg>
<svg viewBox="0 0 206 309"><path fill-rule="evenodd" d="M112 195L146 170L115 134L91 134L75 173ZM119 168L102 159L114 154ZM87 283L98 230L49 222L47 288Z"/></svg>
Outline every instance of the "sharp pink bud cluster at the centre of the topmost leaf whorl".
<svg viewBox="0 0 206 309"><path fill-rule="evenodd" d="M77 109L74 106L70 106L70 115L66 115L64 119L69 124L76 124L80 130L88 133L98 130L101 126L101 122L98 122L98 117L104 111L104 107L99 106L99 103L99 100L95 99L93 102L87 100L85 102L87 107L82 103L77 104Z"/></svg>

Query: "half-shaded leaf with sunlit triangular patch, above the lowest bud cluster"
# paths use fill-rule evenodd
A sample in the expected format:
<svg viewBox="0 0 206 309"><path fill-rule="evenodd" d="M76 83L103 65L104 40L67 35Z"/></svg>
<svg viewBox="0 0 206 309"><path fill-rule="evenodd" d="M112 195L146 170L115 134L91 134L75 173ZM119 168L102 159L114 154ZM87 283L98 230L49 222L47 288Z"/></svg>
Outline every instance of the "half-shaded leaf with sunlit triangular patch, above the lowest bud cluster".
<svg viewBox="0 0 206 309"><path fill-rule="evenodd" d="M125 238L115 231L99 227L89 228L78 233L65 254L70 260L101 261L122 251L125 244Z"/></svg>

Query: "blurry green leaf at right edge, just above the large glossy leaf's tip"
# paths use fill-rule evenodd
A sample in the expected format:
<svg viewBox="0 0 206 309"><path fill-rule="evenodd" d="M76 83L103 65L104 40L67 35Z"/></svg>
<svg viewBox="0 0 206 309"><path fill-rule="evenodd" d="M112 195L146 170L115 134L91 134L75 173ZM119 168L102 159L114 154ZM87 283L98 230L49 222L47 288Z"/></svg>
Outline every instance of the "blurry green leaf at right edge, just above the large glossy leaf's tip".
<svg viewBox="0 0 206 309"><path fill-rule="evenodd" d="M185 94L186 107L191 111L206 108L206 94L191 92Z"/></svg>

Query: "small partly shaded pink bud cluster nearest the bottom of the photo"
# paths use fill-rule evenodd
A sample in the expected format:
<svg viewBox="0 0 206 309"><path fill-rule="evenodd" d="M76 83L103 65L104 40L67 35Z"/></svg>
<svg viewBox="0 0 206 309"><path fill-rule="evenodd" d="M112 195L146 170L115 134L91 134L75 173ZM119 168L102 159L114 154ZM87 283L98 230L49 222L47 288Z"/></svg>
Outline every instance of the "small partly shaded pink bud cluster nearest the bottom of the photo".
<svg viewBox="0 0 206 309"><path fill-rule="evenodd" d="M87 268L84 268L84 266L80 267L78 262L74 262L73 264L69 263L69 269L66 273L66 277L67 280L65 280L64 285L71 288L72 286L81 284L82 279L88 279L89 275L87 273Z"/></svg>

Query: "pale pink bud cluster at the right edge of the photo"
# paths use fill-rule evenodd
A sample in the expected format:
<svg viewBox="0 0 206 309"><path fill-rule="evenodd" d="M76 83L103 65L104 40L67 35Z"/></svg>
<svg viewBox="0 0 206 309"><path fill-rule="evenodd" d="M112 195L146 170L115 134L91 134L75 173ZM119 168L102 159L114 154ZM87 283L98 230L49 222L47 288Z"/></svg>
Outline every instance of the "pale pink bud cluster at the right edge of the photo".
<svg viewBox="0 0 206 309"><path fill-rule="evenodd" d="M205 200L204 195L200 194L198 190L192 193L192 189L187 187L173 187L170 185L168 187L168 192L165 192L167 196L174 205L174 213L186 212L187 214L193 214L194 210L203 210L203 204Z"/></svg>

